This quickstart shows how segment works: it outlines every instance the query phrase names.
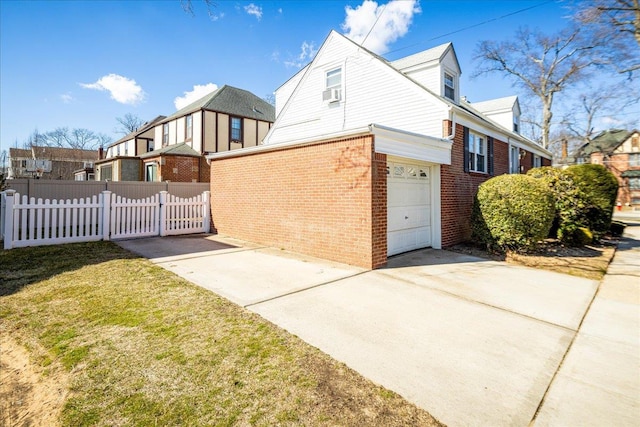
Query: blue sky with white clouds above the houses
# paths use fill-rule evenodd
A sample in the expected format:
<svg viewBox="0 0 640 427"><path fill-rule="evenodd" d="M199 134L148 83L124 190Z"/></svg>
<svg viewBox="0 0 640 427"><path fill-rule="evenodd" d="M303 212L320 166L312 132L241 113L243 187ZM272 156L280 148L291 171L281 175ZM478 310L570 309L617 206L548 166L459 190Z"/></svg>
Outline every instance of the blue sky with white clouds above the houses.
<svg viewBox="0 0 640 427"><path fill-rule="evenodd" d="M193 0L191 16L179 0L0 0L0 150L35 128L82 127L115 141L116 117L169 115L176 98L187 102L197 89L229 84L264 97L309 62L332 29L355 37L385 3L218 0L207 10ZM393 60L453 42L461 93L471 101L518 94L499 76L470 80L478 41L508 38L521 25L551 32L570 14L565 2L547 0L402 1L387 9L396 30L372 33L374 50Z"/></svg>

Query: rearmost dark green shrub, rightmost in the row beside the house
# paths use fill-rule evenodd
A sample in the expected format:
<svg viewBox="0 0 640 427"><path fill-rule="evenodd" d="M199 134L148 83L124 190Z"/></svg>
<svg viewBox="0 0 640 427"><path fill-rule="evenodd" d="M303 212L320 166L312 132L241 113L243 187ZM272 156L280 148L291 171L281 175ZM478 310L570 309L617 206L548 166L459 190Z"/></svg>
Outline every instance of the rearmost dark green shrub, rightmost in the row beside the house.
<svg viewBox="0 0 640 427"><path fill-rule="evenodd" d="M567 168L574 182L585 194L586 221L596 239L611 226L611 216L618 194L618 180L602 165L575 165Z"/></svg>

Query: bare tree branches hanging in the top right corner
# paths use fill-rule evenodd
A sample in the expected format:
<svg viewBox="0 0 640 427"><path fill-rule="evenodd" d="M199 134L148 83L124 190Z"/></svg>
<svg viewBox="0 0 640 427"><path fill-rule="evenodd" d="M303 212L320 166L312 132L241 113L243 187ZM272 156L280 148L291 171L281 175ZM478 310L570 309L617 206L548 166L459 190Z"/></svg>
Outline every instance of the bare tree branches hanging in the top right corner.
<svg viewBox="0 0 640 427"><path fill-rule="evenodd" d="M590 0L578 3L577 23L591 39L606 41L600 55L629 78L640 70L640 0Z"/></svg>

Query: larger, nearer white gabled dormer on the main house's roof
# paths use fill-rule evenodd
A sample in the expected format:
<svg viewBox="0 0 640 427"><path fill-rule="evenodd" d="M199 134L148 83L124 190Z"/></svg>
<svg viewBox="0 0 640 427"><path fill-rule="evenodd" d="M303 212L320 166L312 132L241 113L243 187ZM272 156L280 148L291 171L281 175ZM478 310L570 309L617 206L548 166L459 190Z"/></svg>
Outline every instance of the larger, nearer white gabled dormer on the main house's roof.
<svg viewBox="0 0 640 427"><path fill-rule="evenodd" d="M391 62L391 66L422 86L456 104L460 102L460 64L453 44L434 48Z"/></svg>

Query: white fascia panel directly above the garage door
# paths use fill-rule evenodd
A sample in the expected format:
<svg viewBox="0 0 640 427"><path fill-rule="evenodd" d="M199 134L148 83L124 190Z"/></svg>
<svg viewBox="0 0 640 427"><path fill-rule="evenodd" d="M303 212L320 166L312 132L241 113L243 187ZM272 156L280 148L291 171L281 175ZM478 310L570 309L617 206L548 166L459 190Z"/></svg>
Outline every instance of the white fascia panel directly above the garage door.
<svg viewBox="0 0 640 427"><path fill-rule="evenodd" d="M405 132L385 126L372 124L369 126L375 136L376 153L424 162L451 164L451 146L448 139Z"/></svg>

